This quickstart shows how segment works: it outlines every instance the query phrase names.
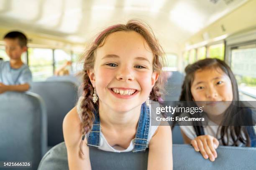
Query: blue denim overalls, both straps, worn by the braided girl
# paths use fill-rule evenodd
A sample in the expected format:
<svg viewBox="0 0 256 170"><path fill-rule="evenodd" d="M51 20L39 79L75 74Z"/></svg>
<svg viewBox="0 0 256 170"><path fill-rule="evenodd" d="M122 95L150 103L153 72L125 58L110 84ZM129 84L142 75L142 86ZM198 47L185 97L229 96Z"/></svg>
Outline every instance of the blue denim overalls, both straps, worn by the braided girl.
<svg viewBox="0 0 256 170"><path fill-rule="evenodd" d="M98 114L98 108L96 108L95 110L97 110L93 112L95 120L92 125L92 130L87 135L87 145L100 147L100 117ZM149 107L146 105L146 103L143 103L141 105L141 114L138 120L136 135L135 138L133 139L133 152L145 151L146 148L148 147L148 131L150 126L150 119L151 117Z"/></svg>

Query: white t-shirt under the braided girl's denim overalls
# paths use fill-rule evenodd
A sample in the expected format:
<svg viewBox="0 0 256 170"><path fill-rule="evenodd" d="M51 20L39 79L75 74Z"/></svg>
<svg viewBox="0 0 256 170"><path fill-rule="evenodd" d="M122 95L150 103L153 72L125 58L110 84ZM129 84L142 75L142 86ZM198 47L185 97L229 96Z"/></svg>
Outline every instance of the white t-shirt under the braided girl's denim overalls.
<svg viewBox="0 0 256 170"><path fill-rule="evenodd" d="M80 120L82 121L82 109L81 109L81 102L83 100L84 97L79 97L79 100L77 102L77 113L79 115ZM150 115L151 115L151 107L150 108ZM151 120L150 120L150 124L149 124L149 132L148 132L148 141L151 140L152 136L155 134L156 129L158 128L158 126L151 126ZM113 148L112 146L110 146L108 144L108 141L106 140L106 138L104 137L103 133L100 132L100 147L98 147L100 150L105 150L105 151L109 151L109 152L116 152L116 153L121 153L121 152L130 152L133 150L134 148L134 143L133 141L131 141L130 145L128 146L128 148L122 148L122 147L118 147L115 146L115 148Z"/></svg>

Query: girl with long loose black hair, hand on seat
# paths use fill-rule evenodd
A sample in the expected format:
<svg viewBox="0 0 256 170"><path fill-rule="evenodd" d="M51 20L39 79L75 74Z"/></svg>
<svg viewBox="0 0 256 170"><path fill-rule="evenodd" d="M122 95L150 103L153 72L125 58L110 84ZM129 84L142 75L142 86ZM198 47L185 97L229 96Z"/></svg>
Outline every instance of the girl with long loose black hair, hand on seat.
<svg viewBox="0 0 256 170"><path fill-rule="evenodd" d="M252 120L251 110L238 106L238 86L230 67L221 60L207 58L188 65L185 72L180 101L204 105L208 122L206 126L180 126L184 142L211 161L217 158L219 144L256 146L253 126L245 126L253 124L248 123Z"/></svg>

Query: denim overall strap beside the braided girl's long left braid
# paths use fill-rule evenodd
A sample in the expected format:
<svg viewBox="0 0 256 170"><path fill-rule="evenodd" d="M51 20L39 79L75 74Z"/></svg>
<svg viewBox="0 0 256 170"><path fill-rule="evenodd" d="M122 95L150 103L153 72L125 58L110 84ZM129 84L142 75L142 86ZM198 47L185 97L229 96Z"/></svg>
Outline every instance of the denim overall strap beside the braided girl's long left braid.
<svg viewBox="0 0 256 170"><path fill-rule="evenodd" d="M92 125L92 130L87 135L87 145L99 147L101 126L100 126L100 116L98 113L98 108L95 108L93 113L94 113L95 119Z"/></svg>

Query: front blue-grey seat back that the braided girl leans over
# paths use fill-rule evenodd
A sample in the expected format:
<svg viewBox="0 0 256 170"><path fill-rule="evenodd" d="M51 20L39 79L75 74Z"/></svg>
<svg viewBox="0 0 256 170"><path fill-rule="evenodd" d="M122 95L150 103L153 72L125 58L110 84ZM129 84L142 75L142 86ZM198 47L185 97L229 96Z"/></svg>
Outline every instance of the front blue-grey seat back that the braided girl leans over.
<svg viewBox="0 0 256 170"><path fill-rule="evenodd" d="M219 146L215 162L205 160L191 145L173 145L174 170L255 170L256 148ZM78 153L77 153L78 154ZM112 153L90 147L93 170L145 170L148 150L142 153ZM38 170L68 170L67 149L60 143L42 158Z"/></svg>

